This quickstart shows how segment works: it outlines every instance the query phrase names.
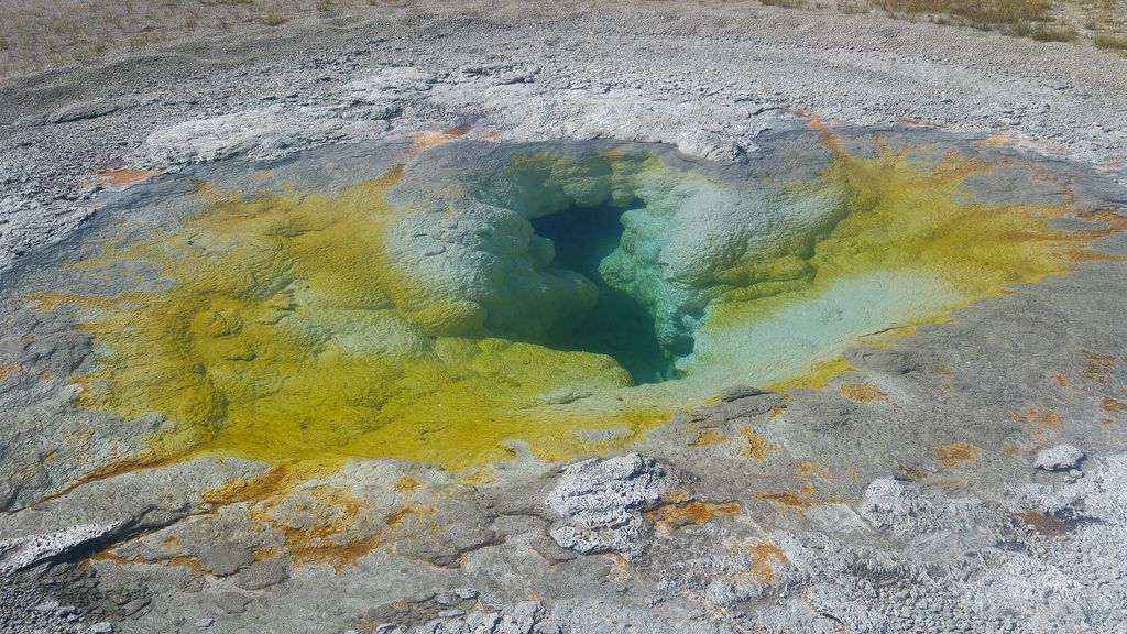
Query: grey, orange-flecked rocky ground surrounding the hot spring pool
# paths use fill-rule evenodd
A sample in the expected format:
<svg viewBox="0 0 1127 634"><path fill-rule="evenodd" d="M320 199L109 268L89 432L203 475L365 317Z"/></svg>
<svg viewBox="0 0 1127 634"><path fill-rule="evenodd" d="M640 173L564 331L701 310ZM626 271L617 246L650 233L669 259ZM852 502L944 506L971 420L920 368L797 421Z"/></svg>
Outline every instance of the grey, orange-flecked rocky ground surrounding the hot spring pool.
<svg viewBox="0 0 1127 634"><path fill-rule="evenodd" d="M0 104L6 293L154 173L455 126L735 164L811 118L935 126L1086 170L1127 206L1127 59L873 15L381 5L14 72ZM66 378L89 342L39 315L0 333L0 411L19 412L0 414L0 627L1120 631L1122 273L1085 262L851 350L826 388L728 389L627 452L488 477L214 457L105 472L162 421L107 414L116 431L83 435Z"/></svg>

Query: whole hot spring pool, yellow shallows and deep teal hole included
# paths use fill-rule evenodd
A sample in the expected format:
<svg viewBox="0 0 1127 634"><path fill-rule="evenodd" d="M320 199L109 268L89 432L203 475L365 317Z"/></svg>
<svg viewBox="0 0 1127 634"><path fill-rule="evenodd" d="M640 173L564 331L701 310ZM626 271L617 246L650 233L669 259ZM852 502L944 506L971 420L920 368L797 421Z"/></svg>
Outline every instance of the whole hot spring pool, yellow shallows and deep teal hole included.
<svg viewBox="0 0 1127 634"><path fill-rule="evenodd" d="M756 142L729 166L482 140L201 166L25 261L0 323L85 337L71 406L154 430L148 461L456 470L824 386L850 347L1103 257L1124 224L1086 176L938 132Z"/></svg>

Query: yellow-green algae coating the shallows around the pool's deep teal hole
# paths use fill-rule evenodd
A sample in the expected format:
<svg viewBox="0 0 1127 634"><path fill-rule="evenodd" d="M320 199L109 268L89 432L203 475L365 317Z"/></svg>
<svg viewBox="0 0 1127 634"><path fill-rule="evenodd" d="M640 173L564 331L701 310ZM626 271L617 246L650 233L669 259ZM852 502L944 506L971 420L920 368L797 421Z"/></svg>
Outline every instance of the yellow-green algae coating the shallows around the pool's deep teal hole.
<svg viewBox="0 0 1127 634"><path fill-rule="evenodd" d="M962 179L993 167L837 150L817 182L792 187L848 192L843 213L813 238L780 235L719 271L694 350L677 361L684 378L660 384L635 386L614 358L582 346L496 336L482 306L412 279L385 241L414 213L387 202L400 170L337 195L205 190L205 209L183 227L109 244L78 264L145 263L167 289L36 299L44 309L88 309L80 327L108 352L98 370L74 377L78 404L125 420L163 415L171 425L153 456L388 457L461 469L526 449L565 460L630 443L727 385L817 384L859 337L941 322L1093 256L1099 231L1048 222L1067 203L975 202ZM609 201L672 209L706 183L693 173L671 178L674 168L655 156L618 165L613 155L524 157L511 168L524 171L505 193L520 202L506 204L535 208L530 215ZM576 185L607 169L618 176L605 191ZM654 248L638 243L660 228L631 231L629 213L622 240ZM622 248L597 270L653 311L664 291L623 282ZM580 433L606 429L627 432L604 441Z"/></svg>

